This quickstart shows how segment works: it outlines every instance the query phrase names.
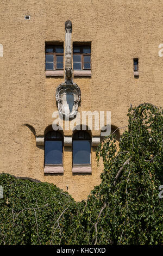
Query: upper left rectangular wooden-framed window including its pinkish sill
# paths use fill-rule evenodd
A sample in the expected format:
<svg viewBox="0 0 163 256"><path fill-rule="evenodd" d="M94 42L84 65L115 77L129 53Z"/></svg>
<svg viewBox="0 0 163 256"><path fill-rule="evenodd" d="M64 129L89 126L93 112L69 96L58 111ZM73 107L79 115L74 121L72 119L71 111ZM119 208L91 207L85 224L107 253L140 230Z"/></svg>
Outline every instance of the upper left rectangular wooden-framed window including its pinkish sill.
<svg viewBox="0 0 163 256"><path fill-rule="evenodd" d="M45 47L46 76L64 75L64 46L46 44Z"/></svg>

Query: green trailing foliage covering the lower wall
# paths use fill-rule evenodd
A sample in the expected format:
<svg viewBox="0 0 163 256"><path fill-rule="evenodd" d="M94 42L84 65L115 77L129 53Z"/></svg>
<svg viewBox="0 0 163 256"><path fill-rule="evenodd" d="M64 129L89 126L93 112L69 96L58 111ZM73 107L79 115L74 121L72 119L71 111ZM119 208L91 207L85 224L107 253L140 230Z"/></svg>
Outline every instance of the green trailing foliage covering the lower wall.
<svg viewBox="0 0 163 256"><path fill-rule="evenodd" d="M128 112L117 151L115 132L98 146L101 184L75 202L53 184L0 175L1 245L163 244L162 109L143 103Z"/></svg>

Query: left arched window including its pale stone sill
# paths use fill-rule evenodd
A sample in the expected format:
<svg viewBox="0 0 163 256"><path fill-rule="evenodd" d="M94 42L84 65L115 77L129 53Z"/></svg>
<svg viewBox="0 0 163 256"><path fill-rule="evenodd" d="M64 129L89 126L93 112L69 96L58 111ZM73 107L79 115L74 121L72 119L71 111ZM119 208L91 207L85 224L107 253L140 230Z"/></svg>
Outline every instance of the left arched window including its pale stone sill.
<svg viewBox="0 0 163 256"><path fill-rule="evenodd" d="M63 137L57 131L49 131L45 135L45 172L63 172L62 166Z"/></svg>

